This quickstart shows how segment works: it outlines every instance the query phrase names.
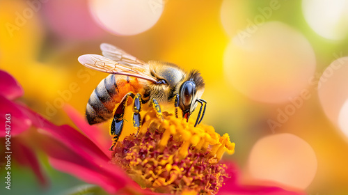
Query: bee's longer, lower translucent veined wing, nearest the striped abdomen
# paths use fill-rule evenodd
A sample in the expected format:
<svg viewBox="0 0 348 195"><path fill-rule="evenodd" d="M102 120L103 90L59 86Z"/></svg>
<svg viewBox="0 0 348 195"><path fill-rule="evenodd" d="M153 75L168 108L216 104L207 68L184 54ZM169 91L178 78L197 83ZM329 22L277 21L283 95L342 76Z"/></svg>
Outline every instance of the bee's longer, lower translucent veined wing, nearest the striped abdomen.
<svg viewBox="0 0 348 195"><path fill-rule="evenodd" d="M79 63L94 70L101 72L107 72L116 75L127 75L130 77L137 77L139 79L145 79L152 82L157 82L155 77L149 75L145 67L134 67L133 65L124 65L110 59L106 59L104 56L95 54L86 54L79 56Z"/></svg>

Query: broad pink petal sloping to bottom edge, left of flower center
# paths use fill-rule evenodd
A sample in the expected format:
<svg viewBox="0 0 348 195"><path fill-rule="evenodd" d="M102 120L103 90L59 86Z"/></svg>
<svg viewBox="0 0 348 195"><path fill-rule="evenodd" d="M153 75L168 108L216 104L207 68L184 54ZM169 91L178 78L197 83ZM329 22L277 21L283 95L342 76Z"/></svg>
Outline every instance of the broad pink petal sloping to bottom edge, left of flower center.
<svg viewBox="0 0 348 195"><path fill-rule="evenodd" d="M52 166L60 171L70 173L86 182L100 185L110 193L114 193L127 185L131 185L136 190L142 190L139 185L128 178L122 169L110 164L109 161L81 156L51 137L44 136L44 139L40 140L39 143L45 153L49 155Z"/></svg>

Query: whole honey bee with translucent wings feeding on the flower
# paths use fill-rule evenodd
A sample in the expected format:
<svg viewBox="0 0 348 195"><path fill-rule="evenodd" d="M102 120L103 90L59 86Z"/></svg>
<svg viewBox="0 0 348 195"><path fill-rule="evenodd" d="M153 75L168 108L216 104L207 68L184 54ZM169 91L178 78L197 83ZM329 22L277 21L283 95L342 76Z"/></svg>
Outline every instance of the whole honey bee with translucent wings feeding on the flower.
<svg viewBox="0 0 348 195"><path fill-rule="evenodd" d="M129 97L133 99L133 125L138 132L142 124L139 114L142 104L155 109L159 118L163 118L160 104L173 104L175 116L178 118L177 107L180 107L182 118L188 121L200 103L195 127L202 121L207 102L200 99L205 83L198 70L185 72L173 63L160 61L145 63L106 43L102 43L100 49L103 56L86 54L79 56L78 60L87 68L111 74L100 81L86 107L86 118L90 125L113 118L110 129L113 143L109 150L113 150L122 133Z"/></svg>

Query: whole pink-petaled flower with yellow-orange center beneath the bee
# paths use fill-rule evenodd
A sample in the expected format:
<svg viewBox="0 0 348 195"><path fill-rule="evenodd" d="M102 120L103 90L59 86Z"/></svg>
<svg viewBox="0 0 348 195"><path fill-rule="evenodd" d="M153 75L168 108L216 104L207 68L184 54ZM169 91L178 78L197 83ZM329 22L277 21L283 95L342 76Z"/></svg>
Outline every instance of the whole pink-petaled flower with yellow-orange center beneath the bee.
<svg viewBox="0 0 348 195"><path fill-rule="evenodd" d="M23 94L22 87L3 71L0 80L0 112L11 111L16 127L12 132L16 159L31 166L42 182L45 178L38 160L24 139L31 126L40 130L35 142L49 156L52 166L99 185L109 194L302 194L279 187L239 184L236 166L232 162L219 164L223 151L234 152L234 143L227 134L221 137L207 125L195 128L168 114L162 121L150 111L139 135L129 135L110 153L110 138L103 137L99 127L88 125L72 107L65 107L65 111L81 132L69 125L56 126L14 102Z"/></svg>

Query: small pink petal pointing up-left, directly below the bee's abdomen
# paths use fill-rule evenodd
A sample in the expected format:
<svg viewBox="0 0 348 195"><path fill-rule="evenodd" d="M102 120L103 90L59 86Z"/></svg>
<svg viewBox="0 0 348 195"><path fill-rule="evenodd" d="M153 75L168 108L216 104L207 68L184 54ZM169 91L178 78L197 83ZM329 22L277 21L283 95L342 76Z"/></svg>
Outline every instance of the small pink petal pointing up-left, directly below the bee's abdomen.
<svg viewBox="0 0 348 195"><path fill-rule="evenodd" d="M109 147L111 146L111 137L105 137L102 134L102 129L97 128L96 126L89 125L85 118L79 114L79 112L71 107L66 105L64 107L65 112L68 114L69 118L74 122L79 129L86 134L86 136L97 145L100 150L104 152L105 155L110 156Z"/></svg>

